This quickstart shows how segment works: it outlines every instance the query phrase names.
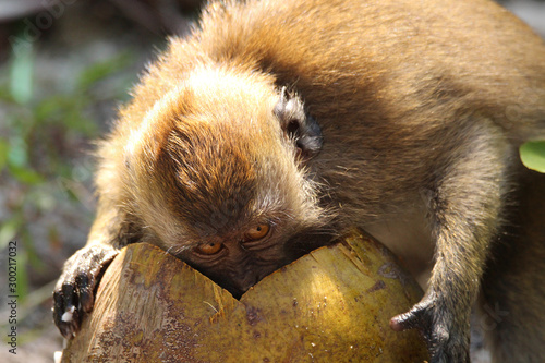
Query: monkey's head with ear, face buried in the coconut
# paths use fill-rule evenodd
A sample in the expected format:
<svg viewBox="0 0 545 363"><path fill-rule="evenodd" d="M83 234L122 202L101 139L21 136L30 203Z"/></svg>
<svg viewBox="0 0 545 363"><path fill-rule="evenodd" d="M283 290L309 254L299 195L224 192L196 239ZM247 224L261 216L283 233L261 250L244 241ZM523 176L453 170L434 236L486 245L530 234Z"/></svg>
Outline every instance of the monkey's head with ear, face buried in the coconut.
<svg viewBox="0 0 545 363"><path fill-rule="evenodd" d="M319 128L267 76L193 72L128 140L134 214L235 297L311 250L327 218L307 170Z"/></svg>

